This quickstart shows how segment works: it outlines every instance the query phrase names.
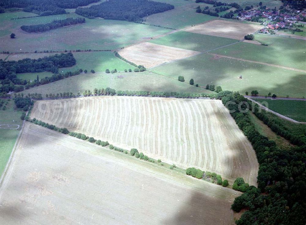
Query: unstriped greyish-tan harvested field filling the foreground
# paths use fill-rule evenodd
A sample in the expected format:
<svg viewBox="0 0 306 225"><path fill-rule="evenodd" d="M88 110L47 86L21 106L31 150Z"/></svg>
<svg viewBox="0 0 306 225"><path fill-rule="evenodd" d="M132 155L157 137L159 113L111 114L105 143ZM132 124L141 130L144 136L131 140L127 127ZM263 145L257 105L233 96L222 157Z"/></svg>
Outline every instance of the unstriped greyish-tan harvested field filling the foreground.
<svg viewBox="0 0 306 225"><path fill-rule="evenodd" d="M0 224L228 225L235 192L25 123L0 188Z"/></svg>

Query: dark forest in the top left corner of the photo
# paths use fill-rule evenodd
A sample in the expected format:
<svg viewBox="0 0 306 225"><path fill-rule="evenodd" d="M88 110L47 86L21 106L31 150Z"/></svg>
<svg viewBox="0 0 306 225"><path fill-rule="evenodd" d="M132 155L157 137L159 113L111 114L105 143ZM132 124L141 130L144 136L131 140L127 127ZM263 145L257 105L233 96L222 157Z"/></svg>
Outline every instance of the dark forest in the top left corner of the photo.
<svg viewBox="0 0 306 225"><path fill-rule="evenodd" d="M36 13L40 16L55 14L64 14L66 9L77 8L78 6L87 6L92 2L99 0L2 0L2 8L23 8L23 11Z"/></svg>

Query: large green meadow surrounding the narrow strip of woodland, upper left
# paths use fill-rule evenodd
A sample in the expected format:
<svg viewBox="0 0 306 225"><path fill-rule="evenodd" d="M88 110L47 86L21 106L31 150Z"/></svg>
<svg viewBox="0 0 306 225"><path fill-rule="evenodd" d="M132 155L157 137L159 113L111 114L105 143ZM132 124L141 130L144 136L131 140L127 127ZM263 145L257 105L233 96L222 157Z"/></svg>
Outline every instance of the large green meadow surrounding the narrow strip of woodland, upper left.
<svg viewBox="0 0 306 225"><path fill-rule="evenodd" d="M9 14L9 13L1 13ZM15 13L17 16L18 13ZM44 24L55 19L80 17L75 13L9 20L4 17L4 30L0 35L0 52L34 52L43 50L118 49L143 39L165 34L171 30L121 20L86 19L84 24L58 28L43 33L26 33L22 25ZM16 38L10 39L10 33ZM0 32L1 34L1 32Z"/></svg>

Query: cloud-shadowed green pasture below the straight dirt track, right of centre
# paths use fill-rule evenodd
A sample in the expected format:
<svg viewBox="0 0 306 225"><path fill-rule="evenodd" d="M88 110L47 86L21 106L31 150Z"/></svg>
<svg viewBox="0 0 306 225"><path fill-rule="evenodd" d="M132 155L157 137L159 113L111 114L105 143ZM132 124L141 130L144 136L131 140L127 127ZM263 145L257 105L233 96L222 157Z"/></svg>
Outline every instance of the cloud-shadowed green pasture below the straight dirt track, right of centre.
<svg viewBox="0 0 306 225"><path fill-rule="evenodd" d="M161 65L152 71L173 79L180 75L184 76L185 80L194 79L194 82L202 87L207 84L220 85L223 90L239 91L241 94L258 90L260 95L271 92L277 96L301 98L306 85L305 73L302 72L218 58L207 53ZM242 79L239 78L240 75Z"/></svg>

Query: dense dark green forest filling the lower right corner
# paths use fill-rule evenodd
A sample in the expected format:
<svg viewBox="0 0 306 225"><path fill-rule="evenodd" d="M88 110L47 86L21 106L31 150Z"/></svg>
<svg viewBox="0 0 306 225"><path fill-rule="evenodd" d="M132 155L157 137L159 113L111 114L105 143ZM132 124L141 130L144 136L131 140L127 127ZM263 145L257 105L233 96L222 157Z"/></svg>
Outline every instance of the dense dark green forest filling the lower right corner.
<svg viewBox="0 0 306 225"><path fill-rule="evenodd" d="M235 198L232 205L236 212L247 210L236 224L304 224L306 146L280 149L274 141L256 131L247 113L239 111L240 103L252 105L250 101L231 91L222 91L218 95L222 103L234 111L231 116L252 143L259 162L258 188L250 186L244 194ZM258 107L255 105L255 111ZM241 109L245 108L246 105L242 104Z"/></svg>

